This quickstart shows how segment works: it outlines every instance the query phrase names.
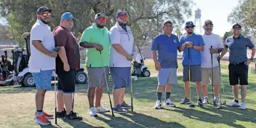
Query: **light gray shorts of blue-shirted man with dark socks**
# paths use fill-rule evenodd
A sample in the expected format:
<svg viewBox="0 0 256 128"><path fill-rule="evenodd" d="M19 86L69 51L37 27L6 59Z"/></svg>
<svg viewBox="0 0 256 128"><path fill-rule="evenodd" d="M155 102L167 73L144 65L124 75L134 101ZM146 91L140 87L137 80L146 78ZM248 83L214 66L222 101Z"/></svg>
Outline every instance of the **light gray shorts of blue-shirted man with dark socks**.
<svg viewBox="0 0 256 128"><path fill-rule="evenodd" d="M161 68L158 75L159 86L177 84L177 68Z"/></svg>

